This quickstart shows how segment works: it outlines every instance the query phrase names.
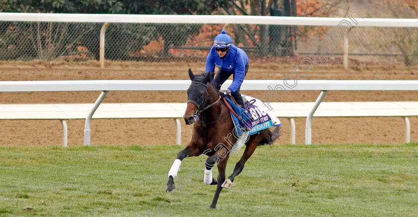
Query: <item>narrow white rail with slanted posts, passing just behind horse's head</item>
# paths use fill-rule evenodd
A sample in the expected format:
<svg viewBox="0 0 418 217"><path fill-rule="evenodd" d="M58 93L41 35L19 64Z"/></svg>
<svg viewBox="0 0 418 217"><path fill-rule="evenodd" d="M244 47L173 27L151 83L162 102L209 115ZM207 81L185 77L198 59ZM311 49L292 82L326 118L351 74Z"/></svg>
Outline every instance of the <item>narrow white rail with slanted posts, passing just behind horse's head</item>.
<svg viewBox="0 0 418 217"><path fill-rule="evenodd" d="M418 81L411 80L246 80L241 90L266 91L258 98L267 106L274 97L280 99L287 91L321 91L307 115L305 143L312 143L311 120L316 108L329 91L418 91ZM109 91L186 91L189 80L93 80L93 81L0 81L1 92L59 92L59 91L102 91L93 104L85 121L84 145L90 145L90 123L96 109ZM223 84L228 87L231 81ZM257 97L257 96L254 96ZM397 115L394 115L397 116Z"/></svg>

